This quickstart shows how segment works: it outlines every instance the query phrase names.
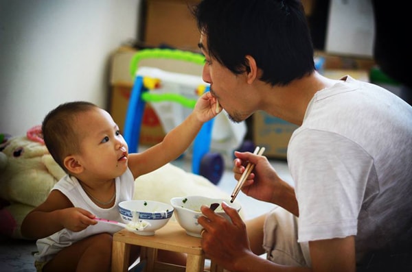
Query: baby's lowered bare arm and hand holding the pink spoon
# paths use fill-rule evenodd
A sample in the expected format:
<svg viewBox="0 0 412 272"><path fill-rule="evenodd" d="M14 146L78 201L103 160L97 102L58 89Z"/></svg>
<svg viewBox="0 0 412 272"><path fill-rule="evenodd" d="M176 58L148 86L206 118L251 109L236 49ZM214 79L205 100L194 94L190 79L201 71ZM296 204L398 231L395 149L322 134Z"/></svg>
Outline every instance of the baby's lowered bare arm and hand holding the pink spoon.
<svg viewBox="0 0 412 272"><path fill-rule="evenodd" d="M39 239L67 228L73 232L95 225L95 216L82 208L75 208L59 190L52 190L45 202L34 208L21 223L26 238Z"/></svg>

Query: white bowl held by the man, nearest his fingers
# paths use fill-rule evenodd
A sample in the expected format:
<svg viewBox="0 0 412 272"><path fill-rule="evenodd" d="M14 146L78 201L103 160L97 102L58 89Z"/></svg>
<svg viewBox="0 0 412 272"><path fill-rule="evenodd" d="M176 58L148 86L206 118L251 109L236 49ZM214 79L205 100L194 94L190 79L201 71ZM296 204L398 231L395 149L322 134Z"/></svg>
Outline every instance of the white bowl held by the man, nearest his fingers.
<svg viewBox="0 0 412 272"><path fill-rule="evenodd" d="M240 211L241 206L236 203L236 201L230 203L230 199L215 199L196 195L187 197L173 197L170 199L170 203L176 211L175 216L177 221L183 229L185 229L187 234L195 237L201 237L202 225L200 225L197 221L198 217L203 215L201 212L201 206L210 206L211 203L220 204L222 201L225 201L232 208L236 208L238 212ZM219 205L215 212L230 220L229 216L222 209L222 206Z"/></svg>

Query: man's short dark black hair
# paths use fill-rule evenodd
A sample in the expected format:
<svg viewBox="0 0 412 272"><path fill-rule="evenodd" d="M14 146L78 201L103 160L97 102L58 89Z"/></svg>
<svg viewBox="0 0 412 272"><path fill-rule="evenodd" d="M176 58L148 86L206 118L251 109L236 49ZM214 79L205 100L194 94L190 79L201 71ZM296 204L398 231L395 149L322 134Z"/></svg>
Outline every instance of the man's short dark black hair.
<svg viewBox="0 0 412 272"><path fill-rule="evenodd" d="M313 46L299 0L203 0L192 8L207 37L208 54L233 73L248 71L255 58L272 85L285 85L314 71Z"/></svg>

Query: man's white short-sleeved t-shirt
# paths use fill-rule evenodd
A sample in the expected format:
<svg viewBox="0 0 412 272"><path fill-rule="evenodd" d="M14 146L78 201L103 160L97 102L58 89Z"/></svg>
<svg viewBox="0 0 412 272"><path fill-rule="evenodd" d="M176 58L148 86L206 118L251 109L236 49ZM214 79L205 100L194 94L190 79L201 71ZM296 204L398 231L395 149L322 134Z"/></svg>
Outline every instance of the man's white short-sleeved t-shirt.
<svg viewBox="0 0 412 272"><path fill-rule="evenodd" d="M412 237L412 107L351 77L317 92L288 145L299 242L356 235L356 254Z"/></svg>

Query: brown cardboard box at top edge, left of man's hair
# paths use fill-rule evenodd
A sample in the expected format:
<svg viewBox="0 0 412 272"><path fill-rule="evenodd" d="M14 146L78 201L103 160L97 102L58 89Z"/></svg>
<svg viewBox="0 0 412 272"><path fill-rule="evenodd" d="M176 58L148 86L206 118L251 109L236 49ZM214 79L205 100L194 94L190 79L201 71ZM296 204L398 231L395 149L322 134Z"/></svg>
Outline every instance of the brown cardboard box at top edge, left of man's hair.
<svg viewBox="0 0 412 272"><path fill-rule="evenodd" d="M144 42L158 47L165 44L178 49L198 50L201 37L190 6L200 0L146 0Z"/></svg>

